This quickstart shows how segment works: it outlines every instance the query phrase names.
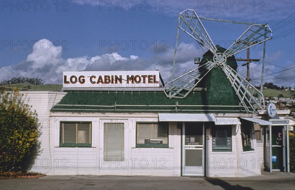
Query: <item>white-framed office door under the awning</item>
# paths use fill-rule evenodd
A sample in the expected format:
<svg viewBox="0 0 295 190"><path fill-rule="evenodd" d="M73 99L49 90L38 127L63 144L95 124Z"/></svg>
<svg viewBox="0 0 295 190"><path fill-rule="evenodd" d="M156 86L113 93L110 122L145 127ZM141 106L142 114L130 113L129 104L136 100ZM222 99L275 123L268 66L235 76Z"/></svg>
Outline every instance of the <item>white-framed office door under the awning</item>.
<svg viewBox="0 0 295 190"><path fill-rule="evenodd" d="M182 175L204 176L204 123L185 122L182 130Z"/></svg>

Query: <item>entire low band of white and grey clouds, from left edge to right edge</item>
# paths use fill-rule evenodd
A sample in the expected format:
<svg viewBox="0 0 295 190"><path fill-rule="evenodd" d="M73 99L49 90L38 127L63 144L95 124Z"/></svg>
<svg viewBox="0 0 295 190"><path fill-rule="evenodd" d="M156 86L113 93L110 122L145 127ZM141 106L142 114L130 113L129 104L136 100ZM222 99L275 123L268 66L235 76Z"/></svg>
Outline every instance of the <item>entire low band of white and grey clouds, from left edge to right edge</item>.
<svg viewBox="0 0 295 190"><path fill-rule="evenodd" d="M39 48L38 46L46 42L49 46ZM82 56L74 58L62 58L61 47L56 47L51 41L42 39L36 42L33 52L28 55L27 60L20 62L14 66L5 66L0 68L1 80L9 80L12 77L34 77L41 78L48 82L62 81L63 71L136 71L136 70L159 70L164 81L170 81L173 70L174 48L168 48L162 53L155 53L150 59L130 55L123 57L118 53L102 54L92 57ZM194 57L201 57L203 52L199 50L194 43L180 43L177 48L177 63L175 69L175 78L197 67L194 64ZM269 56L271 59L281 55L280 52ZM290 66L292 67L292 66ZM288 67L288 68L290 68ZM240 67L239 73L245 77L246 67ZM272 74L275 71L273 65L266 64L265 75ZM292 76L293 71L282 76ZM275 75L279 76L279 75ZM259 78L260 82L261 64L251 65L251 79ZM269 77L268 77L269 78ZM295 82L288 82L284 79L266 78L267 82L273 82L277 85L294 86ZM283 78L283 77L281 77ZM290 81L290 79L289 79ZM279 82L279 83L278 83Z"/></svg>

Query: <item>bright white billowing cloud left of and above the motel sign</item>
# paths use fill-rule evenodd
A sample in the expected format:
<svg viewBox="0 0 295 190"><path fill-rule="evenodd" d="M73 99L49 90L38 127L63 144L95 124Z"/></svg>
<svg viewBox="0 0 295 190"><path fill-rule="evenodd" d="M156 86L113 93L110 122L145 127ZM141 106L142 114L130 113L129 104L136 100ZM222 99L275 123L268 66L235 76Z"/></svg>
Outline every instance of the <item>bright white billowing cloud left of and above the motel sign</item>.
<svg viewBox="0 0 295 190"><path fill-rule="evenodd" d="M9 80L12 77L35 77L48 82L62 80L63 71L83 71L89 66L97 70L104 70L109 65L118 61L128 62L136 60L138 56L130 55L130 58L122 57L118 53L102 54L93 57L62 58L62 49L47 40L42 39L34 44L33 51L27 56L27 60L13 66L0 68L1 80Z"/></svg>

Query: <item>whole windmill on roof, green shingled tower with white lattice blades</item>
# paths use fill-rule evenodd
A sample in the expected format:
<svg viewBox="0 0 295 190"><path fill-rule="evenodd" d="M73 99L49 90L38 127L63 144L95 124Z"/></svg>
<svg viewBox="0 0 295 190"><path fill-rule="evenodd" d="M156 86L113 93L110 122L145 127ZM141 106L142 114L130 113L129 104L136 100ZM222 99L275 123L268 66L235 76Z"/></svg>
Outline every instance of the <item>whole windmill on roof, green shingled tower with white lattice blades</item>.
<svg viewBox="0 0 295 190"><path fill-rule="evenodd" d="M201 88L206 89L202 93L204 108L210 105L223 107L240 105L242 111L252 113L265 108L263 94L236 72L237 63L234 55L271 39L272 31L267 24L250 24L250 27L228 49L213 44L194 10L186 9L179 13L177 38L179 29L201 46L207 47L208 51L203 55L198 68L165 85L164 91L168 98L184 99L196 88Z"/></svg>

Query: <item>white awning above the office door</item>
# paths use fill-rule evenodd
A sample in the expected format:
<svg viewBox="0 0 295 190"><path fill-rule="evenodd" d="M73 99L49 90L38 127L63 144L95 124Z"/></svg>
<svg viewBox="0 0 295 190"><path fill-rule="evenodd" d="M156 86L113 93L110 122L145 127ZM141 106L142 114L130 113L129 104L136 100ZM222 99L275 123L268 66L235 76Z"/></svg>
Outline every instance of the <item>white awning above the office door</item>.
<svg viewBox="0 0 295 190"><path fill-rule="evenodd" d="M212 113L159 113L159 121L215 121Z"/></svg>

